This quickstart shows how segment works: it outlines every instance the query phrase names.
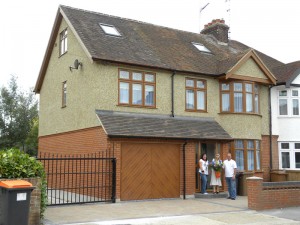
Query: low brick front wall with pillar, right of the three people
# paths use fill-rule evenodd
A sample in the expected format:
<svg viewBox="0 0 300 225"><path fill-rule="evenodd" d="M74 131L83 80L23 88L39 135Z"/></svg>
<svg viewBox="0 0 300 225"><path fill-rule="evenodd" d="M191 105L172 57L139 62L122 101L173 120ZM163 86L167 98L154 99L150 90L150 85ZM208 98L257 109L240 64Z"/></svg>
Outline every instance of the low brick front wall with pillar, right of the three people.
<svg viewBox="0 0 300 225"><path fill-rule="evenodd" d="M300 206L300 181L263 182L247 178L248 208L253 210Z"/></svg>

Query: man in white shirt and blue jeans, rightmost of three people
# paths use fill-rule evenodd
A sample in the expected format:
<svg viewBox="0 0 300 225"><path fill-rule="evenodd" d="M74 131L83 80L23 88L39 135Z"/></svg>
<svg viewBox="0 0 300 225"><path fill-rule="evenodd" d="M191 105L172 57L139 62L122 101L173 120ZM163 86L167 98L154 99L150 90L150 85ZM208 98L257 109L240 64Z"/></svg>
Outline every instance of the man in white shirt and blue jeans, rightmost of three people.
<svg viewBox="0 0 300 225"><path fill-rule="evenodd" d="M235 200L236 198L236 162L231 158L231 153L227 154L227 159L224 161L225 180L228 186L228 199Z"/></svg>

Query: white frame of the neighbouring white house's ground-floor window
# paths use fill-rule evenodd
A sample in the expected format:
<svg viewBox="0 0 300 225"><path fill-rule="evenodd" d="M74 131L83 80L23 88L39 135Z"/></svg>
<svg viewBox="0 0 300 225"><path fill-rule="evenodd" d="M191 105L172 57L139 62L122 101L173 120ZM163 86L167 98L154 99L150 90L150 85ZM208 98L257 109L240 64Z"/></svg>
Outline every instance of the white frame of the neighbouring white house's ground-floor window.
<svg viewBox="0 0 300 225"><path fill-rule="evenodd" d="M282 148L282 144L289 144L289 148ZM300 144L300 141L281 141L278 142L278 150L279 150L279 169L282 170L300 170L300 168L296 168L296 153L300 154L300 148L296 148L296 144ZM290 168L282 167L282 153L289 153L289 162Z"/></svg>

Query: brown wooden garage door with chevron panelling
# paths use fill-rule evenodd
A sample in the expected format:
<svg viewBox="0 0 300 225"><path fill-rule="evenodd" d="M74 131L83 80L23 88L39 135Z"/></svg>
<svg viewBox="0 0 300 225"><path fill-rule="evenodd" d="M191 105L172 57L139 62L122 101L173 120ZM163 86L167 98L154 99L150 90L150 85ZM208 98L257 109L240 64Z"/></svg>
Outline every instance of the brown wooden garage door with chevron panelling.
<svg viewBox="0 0 300 225"><path fill-rule="evenodd" d="M180 145L124 143L121 200L180 197Z"/></svg>

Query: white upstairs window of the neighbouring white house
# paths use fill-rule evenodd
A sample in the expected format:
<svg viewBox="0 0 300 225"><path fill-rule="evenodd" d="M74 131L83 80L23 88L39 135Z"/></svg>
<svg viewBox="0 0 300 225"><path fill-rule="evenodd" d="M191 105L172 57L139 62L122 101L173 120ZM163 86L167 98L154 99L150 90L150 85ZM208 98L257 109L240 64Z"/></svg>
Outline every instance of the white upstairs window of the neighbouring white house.
<svg viewBox="0 0 300 225"><path fill-rule="evenodd" d="M300 116L300 89L278 91L278 115L281 117Z"/></svg>

